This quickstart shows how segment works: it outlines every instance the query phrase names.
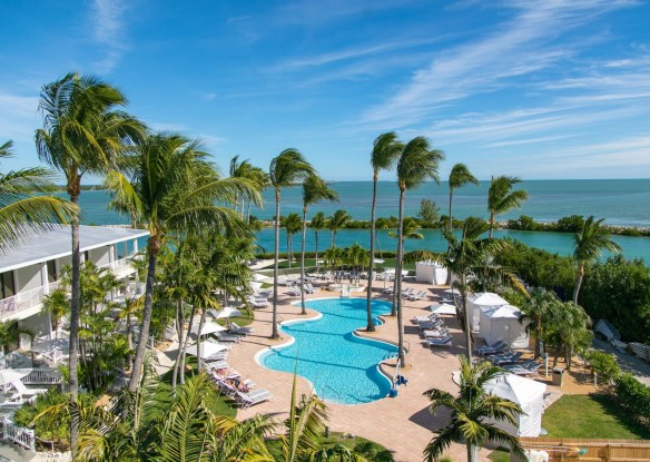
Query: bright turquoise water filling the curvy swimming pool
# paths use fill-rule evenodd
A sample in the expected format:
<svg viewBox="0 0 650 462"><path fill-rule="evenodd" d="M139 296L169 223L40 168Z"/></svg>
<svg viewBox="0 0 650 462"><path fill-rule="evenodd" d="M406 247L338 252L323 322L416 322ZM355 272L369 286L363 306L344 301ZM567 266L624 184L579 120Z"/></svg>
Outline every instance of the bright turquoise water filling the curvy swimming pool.
<svg viewBox="0 0 650 462"><path fill-rule="evenodd" d="M263 354L259 362L268 368L293 373L298 357L298 375L312 382L323 400L361 404L380 400L391 391L391 382L377 364L397 354L397 347L361 338L353 331L366 325L365 298L309 301L307 306L323 314L318 320L283 325L295 343ZM391 304L373 301L377 315L391 312Z"/></svg>

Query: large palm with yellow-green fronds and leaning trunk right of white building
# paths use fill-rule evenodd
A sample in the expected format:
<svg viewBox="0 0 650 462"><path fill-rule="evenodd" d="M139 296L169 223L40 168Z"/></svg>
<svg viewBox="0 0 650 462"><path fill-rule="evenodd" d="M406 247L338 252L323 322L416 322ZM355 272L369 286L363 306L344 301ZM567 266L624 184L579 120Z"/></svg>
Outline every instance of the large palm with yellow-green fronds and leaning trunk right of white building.
<svg viewBox="0 0 650 462"><path fill-rule="evenodd" d="M138 197L149 230L142 325L128 385L131 392L140 380L149 340L156 264L167 235L208 229L245 232L234 210L216 204L233 200L242 190L254 195L254 187L246 179L219 178L207 157L197 140L179 135L150 135L132 158L130 181L120 176L121 188Z"/></svg>

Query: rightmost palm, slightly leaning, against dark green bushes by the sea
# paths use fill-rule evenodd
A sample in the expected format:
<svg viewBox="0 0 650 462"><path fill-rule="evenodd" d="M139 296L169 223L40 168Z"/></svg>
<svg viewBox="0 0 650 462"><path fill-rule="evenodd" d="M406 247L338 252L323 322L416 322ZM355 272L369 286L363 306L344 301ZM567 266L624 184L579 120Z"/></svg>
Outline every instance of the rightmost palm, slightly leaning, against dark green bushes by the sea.
<svg viewBox="0 0 650 462"><path fill-rule="evenodd" d="M573 258L578 263L578 276L573 291L573 303L578 305L578 295L584 278L584 265L594 262L602 250L620 252L621 246L610 237L607 228L602 227L604 218L594 222L593 215L584 220L582 229L573 237Z"/></svg>

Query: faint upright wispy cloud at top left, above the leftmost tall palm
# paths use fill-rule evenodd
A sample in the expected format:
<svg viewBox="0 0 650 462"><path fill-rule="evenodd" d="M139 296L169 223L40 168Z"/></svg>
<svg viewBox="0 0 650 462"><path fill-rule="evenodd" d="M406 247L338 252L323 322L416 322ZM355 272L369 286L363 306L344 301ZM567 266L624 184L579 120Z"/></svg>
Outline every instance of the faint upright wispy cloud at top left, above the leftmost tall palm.
<svg viewBox="0 0 650 462"><path fill-rule="evenodd" d="M125 12L122 0L93 0L91 6L92 36L95 41L106 47L106 56L95 62L100 73L109 73L119 63L125 50Z"/></svg>

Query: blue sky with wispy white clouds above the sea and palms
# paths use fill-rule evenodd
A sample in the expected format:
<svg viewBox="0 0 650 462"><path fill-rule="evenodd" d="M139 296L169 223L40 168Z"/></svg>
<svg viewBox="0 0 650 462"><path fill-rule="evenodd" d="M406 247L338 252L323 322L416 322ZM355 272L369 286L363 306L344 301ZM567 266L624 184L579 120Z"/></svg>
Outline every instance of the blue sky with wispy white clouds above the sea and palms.
<svg viewBox="0 0 650 462"><path fill-rule="evenodd" d="M443 149L443 177L649 177L649 23L633 0L4 1L2 169L38 163L39 90L77 70L223 167L296 147L327 179L371 179L395 130Z"/></svg>

